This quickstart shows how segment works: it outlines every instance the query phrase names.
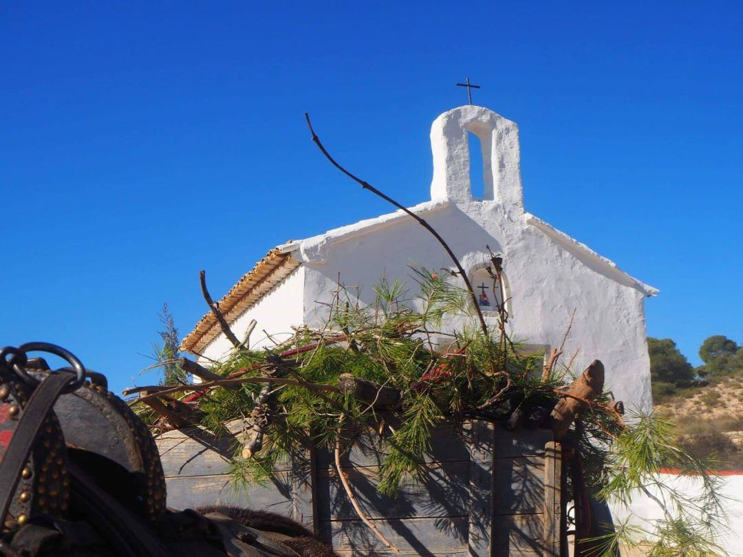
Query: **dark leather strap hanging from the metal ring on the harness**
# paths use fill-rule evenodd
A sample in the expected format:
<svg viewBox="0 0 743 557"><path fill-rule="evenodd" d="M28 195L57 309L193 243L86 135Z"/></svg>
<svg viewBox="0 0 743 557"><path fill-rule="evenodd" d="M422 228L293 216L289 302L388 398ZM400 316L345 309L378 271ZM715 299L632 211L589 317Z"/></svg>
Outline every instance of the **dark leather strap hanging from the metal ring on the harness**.
<svg viewBox="0 0 743 557"><path fill-rule="evenodd" d="M21 471L44 422L59 394L74 381L75 374L69 371L51 373L38 385L23 407L16 431L0 460L0 518L4 520L10 502L16 493Z"/></svg>

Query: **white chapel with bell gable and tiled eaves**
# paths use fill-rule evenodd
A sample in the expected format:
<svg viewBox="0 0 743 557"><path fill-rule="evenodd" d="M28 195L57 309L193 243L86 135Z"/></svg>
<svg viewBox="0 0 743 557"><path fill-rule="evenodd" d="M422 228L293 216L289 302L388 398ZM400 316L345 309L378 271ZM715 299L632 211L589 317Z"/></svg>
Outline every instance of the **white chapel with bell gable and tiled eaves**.
<svg viewBox="0 0 743 557"><path fill-rule="evenodd" d="M482 198L473 197L470 183L470 133L481 146ZM486 245L502 254L511 338L548 354L562 342L575 312L564 348L568 357L577 351L575 370L600 359L605 388L617 400L627 408L650 408L643 302L658 290L525 211L515 123L481 106L454 108L434 120L431 150L431 199L410 210L444 237L474 285L492 284ZM371 303L372 287L383 275L406 282L414 293L411 261L453 269L426 229L404 212L392 212L279 245L237 281L219 307L239 338L253 319L258 322L251 347L259 348L271 341L257 331L280 341L292 327L322 323L326 307L318 302L331 301L339 273L343 284L357 287L361 303ZM493 293L481 302L495 325ZM232 345L208 313L181 348L208 362L224 357Z"/></svg>

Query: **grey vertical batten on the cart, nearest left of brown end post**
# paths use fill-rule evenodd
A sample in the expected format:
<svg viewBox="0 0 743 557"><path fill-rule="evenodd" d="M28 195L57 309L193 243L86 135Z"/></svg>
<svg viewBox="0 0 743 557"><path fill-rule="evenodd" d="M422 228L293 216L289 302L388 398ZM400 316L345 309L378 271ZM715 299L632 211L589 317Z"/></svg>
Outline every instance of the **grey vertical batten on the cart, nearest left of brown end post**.
<svg viewBox="0 0 743 557"><path fill-rule="evenodd" d="M467 548L470 556L490 556L493 529L493 436L492 423L473 420L464 424L470 450Z"/></svg>

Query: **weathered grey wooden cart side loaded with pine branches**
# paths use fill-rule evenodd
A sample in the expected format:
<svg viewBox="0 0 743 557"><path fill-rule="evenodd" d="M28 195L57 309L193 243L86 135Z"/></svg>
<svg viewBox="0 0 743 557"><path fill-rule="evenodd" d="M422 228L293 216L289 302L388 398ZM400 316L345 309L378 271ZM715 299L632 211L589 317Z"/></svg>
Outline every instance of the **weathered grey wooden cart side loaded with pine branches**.
<svg viewBox="0 0 743 557"><path fill-rule="evenodd" d="M239 424L231 424L239 431ZM379 437L361 437L343 469L357 501L402 555L567 555L562 458L551 431L507 431L481 420L433 435L423 483L403 486L397 498L377 493ZM264 485L235 488L229 461L234 438L198 428L157 439L168 505L249 506L289 515L314 529L341 555L392 552L354 513L331 453L311 450L277 466Z"/></svg>

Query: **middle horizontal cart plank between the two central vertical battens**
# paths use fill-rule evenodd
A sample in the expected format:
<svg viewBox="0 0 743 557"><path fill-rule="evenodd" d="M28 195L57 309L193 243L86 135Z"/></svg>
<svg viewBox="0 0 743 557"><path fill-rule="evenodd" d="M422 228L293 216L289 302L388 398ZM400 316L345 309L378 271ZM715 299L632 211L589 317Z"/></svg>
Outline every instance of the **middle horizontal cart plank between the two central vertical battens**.
<svg viewBox="0 0 743 557"><path fill-rule="evenodd" d="M358 504L370 518L463 516L469 512L466 462L430 464L424 481L403 484L394 499L377 492L377 466L348 468L344 472ZM320 521L358 519L335 470L319 470L317 488Z"/></svg>

